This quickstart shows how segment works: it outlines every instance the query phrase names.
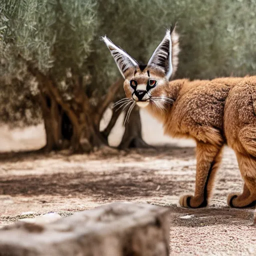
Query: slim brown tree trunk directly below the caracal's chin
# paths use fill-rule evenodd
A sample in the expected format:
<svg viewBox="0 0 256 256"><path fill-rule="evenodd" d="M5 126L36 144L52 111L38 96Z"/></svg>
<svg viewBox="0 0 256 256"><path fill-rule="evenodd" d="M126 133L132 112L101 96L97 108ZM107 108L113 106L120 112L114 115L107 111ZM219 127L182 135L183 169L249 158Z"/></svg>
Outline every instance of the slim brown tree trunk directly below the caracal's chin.
<svg viewBox="0 0 256 256"><path fill-rule="evenodd" d="M125 116L126 114L127 112L125 113ZM141 121L139 115L139 108L137 106L135 106L130 113L129 121L125 125L124 134L118 146L118 148L120 149L128 147L151 147L142 139Z"/></svg>

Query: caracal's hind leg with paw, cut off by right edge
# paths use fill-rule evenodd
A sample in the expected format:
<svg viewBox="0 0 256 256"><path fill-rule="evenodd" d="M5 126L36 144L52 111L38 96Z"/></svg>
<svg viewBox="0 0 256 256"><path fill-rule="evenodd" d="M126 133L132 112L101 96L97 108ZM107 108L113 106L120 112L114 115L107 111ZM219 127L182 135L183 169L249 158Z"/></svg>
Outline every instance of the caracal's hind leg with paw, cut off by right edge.
<svg viewBox="0 0 256 256"><path fill-rule="evenodd" d="M238 135L240 144L235 148L238 166L244 180L243 192L227 196L231 207L243 208L256 204L256 127L246 126Z"/></svg>

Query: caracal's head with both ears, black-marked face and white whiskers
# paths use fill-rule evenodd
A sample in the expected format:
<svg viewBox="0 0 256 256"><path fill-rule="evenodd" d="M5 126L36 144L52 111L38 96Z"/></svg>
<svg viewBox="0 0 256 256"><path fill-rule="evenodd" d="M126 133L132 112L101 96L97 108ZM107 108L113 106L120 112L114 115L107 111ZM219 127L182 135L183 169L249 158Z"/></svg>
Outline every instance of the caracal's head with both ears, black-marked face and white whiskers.
<svg viewBox="0 0 256 256"><path fill-rule="evenodd" d="M168 81L174 75L178 64L178 35L175 27L168 29L160 44L154 50L146 65L138 62L124 50L116 46L106 36L102 40L110 50L124 80L126 99L117 104L130 110L137 104L140 107L164 108L170 104ZM132 43L132 42L131 42Z"/></svg>

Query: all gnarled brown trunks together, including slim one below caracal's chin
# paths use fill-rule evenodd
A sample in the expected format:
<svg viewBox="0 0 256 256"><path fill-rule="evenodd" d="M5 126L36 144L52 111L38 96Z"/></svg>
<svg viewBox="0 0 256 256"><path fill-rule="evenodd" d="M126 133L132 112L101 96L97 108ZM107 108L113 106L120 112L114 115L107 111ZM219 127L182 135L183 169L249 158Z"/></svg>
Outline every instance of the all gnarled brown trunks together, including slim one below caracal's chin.
<svg viewBox="0 0 256 256"><path fill-rule="evenodd" d="M52 76L43 74L29 61L26 62L28 70L37 78L40 91L46 132L46 145L43 149L50 151L69 148L72 152L89 152L95 147L108 145L107 137L121 111L113 112L110 122L102 132L99 131L99 123L109 103L114 101L121 88L122 79L113 83L94 106L82 89L82 77L72 75L70 82L74 86L73 98L67 101L63 99ZM142 139L137 107L130 114L119 145L122 149L127 147L148 147Z"/></svg>

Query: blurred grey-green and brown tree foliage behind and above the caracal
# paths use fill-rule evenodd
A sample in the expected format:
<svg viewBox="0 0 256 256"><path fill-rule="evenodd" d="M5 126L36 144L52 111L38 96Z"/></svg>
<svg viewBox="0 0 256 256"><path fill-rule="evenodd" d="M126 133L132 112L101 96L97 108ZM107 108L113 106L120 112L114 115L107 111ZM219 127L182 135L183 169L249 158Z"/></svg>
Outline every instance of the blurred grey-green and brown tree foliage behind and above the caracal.
<svg viewBox="0 0 256 256"><path fill-rule="evenodd" d="M36 82L18 53L53 76L69 100L66 76L71 72L85 77L84 91L100 101L120 75L99 37L107 34L147 62L175 21L181 46L176 77L253 74L255 9L256 0L1 0L0 119L39 120ZM22 119L27 113L22 108L30 111L30 122Z"/></svg>

